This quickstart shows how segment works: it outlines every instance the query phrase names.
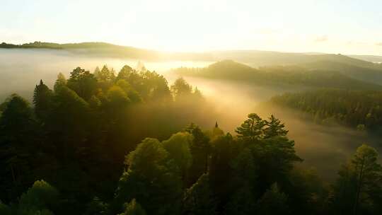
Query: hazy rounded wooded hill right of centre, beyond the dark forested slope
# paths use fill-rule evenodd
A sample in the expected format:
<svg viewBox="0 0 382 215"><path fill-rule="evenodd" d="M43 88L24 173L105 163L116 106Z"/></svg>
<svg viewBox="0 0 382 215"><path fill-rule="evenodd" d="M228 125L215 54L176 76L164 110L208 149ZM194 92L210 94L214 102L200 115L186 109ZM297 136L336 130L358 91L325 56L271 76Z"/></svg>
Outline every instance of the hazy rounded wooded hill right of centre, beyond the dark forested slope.
<svg viewBox="0 0 382 215"><path fill-rule="evenodd" d="M244 81L262 86L382 90L376 83L352 79L340 71L304 69L302 66L263 66L258 69L224 60L205 68L174 69L175 74L208 79Z"/></svg>

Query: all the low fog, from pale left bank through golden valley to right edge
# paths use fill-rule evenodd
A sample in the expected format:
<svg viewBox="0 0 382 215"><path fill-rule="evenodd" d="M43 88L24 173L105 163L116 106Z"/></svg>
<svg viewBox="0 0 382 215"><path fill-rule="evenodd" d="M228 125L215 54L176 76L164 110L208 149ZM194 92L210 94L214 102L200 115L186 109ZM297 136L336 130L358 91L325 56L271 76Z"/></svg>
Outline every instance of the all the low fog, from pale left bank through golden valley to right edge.
<svg viewBox="0 0 382 215"><path fill-rule="evenodd" d="M137 60L101 57L84 57L62 50L3 50L0 49L0 101L11 93L19 93L30 99L35 84L42 79L52 86L57 74L69 76L76 66L93 71L96 66L108 64L115 71L123 65L136 66ZM172 83L177 76L168 74L170 68L179 66L207 66L211 62L144 62L149 70L156 70ZM289 137L296 141L296 151L304 159L301 165L316 168L323 178L332 180L340 165L354 153L357 146L369 142L373 146L382 146L378 139L340 126L327 127L314 124L300 117L299 112L285 108L259 108L258 104L269 100L273 95L285 91L281 88L251 86L232 81L213 81L185 77L193 86L197 86L205 98L214 104L214 108L205 112L204 129L214 126L215 121L226 132L234 129L245 120L250 112L262 117L274 114L285 122ZM378 151L381 152L379 148Z"/></svg>

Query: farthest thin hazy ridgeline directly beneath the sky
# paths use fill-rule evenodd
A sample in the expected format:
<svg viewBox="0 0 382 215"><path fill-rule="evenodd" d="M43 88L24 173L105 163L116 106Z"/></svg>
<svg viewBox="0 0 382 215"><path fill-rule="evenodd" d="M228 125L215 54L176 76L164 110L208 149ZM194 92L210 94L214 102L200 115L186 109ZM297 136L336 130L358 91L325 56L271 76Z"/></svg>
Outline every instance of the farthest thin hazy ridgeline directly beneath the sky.
<svg viewBox="0 0 382 215"><path fill-rule="evenodd" d="M382 64L374 64L365 59L371 57L362 55L352 55L347 57L342 54L323 54L323 53L291 53L291 52L269 52L259 50L226 50L213 52L158 52L155 50L145 50L136 47L127 47L121 45L112 45L106 42L81 42L59 44L53 42L30 42L23 45L13 45L1 43L0 48L43 48L55 50L69 50L79 54L98 54L108 57L129 57L141 59L183 59L183 60L204 60L221 61L224 59L233 59L236 62L242 62L250 66L270 66L270 65L294 65L307 64L318 61L331 61L343 64L351 64L374 69L382 69ZM378 56L373 56L373 59ZM382 59L382 57L380 57ZM379 62L379 61L376 61Z"/></svg>

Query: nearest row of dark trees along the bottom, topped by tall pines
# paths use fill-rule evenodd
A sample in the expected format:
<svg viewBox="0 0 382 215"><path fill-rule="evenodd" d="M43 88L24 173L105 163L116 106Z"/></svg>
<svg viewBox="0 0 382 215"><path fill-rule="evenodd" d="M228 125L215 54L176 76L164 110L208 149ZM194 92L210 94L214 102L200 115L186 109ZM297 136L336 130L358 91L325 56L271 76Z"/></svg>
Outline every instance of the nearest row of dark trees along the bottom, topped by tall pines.
<svg viewBox="0 0 382 215"><path fill-rule="evenodd" d="M126 156L115 187L104 187L115 191L110 199L95 196L73 211L68 196L37 180L10 205L0 203L0 213L381 214L382 167L370 146L360 146L325 187L313 171L294 168L302 159L278 119L253 113L236 133L190 124L163 141L146 138Z"/></svg>

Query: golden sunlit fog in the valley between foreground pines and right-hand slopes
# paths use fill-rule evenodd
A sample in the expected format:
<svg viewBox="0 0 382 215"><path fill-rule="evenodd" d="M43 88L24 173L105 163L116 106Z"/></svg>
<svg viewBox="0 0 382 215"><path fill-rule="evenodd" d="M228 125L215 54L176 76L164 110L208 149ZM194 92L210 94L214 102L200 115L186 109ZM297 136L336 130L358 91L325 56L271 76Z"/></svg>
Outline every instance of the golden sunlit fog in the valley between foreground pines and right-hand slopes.
<svg viewBox="0 0 382 215"><path fill-rule="evenodd" d="M300 165L315 169L325 180L334 180L340 165L347 162L362 143L371 144L382 155L381 139L338 124L330 126L316 124L301 117L301 112L288 108L264 105L272 96L286 90L250 86L232 81L187 77L185 79L192 85L196 85L207 100L214 102L218 113L216 121L226 132L234 133L234 129L250 112L256 112L263 119L273 114L282 120L289 130L289 138L295 141L297 154L304 160ZM208 112L206 117L207 115L209 115Z"/></svg>

